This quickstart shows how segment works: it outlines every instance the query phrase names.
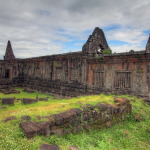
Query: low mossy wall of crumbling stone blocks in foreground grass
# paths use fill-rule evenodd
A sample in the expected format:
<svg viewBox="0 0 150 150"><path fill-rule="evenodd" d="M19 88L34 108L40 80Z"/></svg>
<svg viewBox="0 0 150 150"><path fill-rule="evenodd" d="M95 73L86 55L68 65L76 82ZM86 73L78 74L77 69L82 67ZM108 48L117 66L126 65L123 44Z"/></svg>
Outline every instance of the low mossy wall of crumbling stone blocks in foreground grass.
<svg viewBox="0 0 150 150"><path fill-rule="evenodd" d="M111 127L111 125L126 119L131 112L132 105L128 100L120 101L116 105L98 103L93 106L87 104L82 110L72 108L59 114L39 117L39 119L47 119L45 122L22 122L20 127L28 138L36 135L65 135L83 130Z"/></svg>

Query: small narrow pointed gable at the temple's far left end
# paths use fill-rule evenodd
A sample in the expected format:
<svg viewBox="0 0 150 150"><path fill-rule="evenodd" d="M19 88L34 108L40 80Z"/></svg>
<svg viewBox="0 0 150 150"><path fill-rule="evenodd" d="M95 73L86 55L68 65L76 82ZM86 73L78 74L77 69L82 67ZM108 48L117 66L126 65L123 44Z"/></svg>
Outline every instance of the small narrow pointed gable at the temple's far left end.
<svg viewBox="0 0 150 150"><path fill-rule="evenodd" d="M13 59L15 59L15 55L13 53L11 43L10 41L8 41L4 60L13 60Z"/></svg>

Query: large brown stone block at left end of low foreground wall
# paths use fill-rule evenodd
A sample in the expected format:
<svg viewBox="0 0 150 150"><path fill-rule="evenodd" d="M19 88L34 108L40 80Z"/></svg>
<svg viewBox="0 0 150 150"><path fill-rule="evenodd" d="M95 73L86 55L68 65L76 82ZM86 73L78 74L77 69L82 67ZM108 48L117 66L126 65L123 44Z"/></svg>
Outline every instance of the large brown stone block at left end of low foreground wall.
<svg viewBox="0 0 150 150"><path fill-rule="evenodd" d="M50 134L48 122L41 122L41 123L37 123L34 121L21 122L20 128L23 130L23 132L28 138L32 138L36 135L48 136Z"/></svg>

